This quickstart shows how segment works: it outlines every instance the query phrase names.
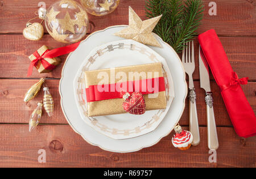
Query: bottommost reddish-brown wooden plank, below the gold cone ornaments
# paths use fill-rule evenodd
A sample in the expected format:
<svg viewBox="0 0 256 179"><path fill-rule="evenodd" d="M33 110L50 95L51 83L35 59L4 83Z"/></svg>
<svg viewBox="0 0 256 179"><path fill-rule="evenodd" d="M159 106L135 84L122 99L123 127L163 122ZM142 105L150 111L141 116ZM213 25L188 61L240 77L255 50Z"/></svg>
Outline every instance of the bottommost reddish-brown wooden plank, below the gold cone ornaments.
<svg viewBox="0 0 256 179"><path fill-rule="evenodd" d="M187 129L184 127L184 129ZM218 127L217 164L209 163L207 127L200 127L201 144L180 151L163 138L141 151L118 154L86 143L68 125L0 125L0 167L256 167L256 138L241 139L232 128ZM38 150L46 150L46 163L38 163ZM236 150L234 150L236 149Z"/></svg>

